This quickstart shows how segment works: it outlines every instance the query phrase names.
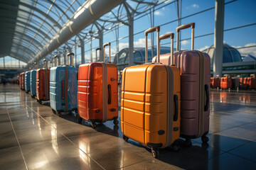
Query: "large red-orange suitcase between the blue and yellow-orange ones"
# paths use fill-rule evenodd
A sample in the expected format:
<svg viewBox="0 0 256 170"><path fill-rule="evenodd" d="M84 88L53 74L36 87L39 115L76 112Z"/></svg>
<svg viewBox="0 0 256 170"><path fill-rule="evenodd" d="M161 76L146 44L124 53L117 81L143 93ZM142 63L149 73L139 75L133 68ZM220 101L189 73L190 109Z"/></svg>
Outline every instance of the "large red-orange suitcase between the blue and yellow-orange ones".
<svg viewBox="0 0 256 170"><path fill-rule="evenodd" d="M117 66L105 62L105 47L107 45L110 43L103 45L104 62L81 64L78 70L77 120L78 123L82 119L90 121L92 128L96 128L96 122L104 123L107 120L114 120L114 125L119 123L117 120Z"/></svg>

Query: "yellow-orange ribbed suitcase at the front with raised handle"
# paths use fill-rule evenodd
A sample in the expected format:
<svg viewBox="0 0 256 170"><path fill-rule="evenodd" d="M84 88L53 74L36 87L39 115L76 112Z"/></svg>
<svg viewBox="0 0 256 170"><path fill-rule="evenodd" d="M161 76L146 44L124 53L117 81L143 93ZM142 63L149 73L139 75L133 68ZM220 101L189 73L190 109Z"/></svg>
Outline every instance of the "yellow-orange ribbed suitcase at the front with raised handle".
<svg viewBox="0 0 256 170"><path fill-rule="evenodd" d="M145 61L148 58L147 35L157 31L159 58L160 27L145 31ZM174 34L163 35L162 39ZM171 49L173 50L173 48ZM172 146L178 151L180 135L180 75L177 67L159 62L126 67L122 72L121 128L123 139L135 140L151 147L153 157L158 148Z"/></svg>

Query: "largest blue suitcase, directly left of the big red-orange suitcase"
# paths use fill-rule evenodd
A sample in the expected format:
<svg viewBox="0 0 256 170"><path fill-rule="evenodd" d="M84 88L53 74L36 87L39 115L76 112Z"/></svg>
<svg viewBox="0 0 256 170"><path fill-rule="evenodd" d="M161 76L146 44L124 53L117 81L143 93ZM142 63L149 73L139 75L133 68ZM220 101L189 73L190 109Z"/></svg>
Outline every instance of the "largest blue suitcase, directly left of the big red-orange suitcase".
<svg viewBox="0 0 256 170"><path fill-rule="evenodd" d="M69 53L73 56L74 53ZM50 107L53 113L61 115L61 112L76 111L78 109L78 79L73 62L68 65L50 68ZM69 60L68 60L69 61Z"/></svg>

